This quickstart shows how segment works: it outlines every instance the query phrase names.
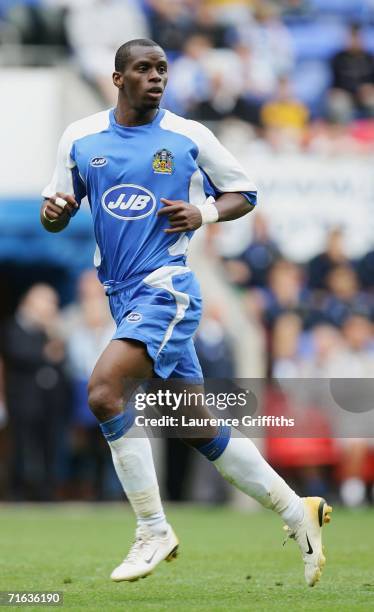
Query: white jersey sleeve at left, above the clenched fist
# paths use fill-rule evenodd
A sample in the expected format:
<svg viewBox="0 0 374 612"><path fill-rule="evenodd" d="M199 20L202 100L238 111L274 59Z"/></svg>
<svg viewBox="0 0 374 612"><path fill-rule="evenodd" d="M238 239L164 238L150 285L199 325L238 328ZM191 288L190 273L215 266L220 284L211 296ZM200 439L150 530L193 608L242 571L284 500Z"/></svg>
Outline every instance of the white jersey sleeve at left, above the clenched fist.
<svg viewBox="0 0 374 612"><path fill-rule="evenodd" d="M42 191L44 198L50 198L58 191L74 195L72 169L76 164L70 157L72 144L71 130L68 127L58 145L56 167L52 179Z"/></svg>

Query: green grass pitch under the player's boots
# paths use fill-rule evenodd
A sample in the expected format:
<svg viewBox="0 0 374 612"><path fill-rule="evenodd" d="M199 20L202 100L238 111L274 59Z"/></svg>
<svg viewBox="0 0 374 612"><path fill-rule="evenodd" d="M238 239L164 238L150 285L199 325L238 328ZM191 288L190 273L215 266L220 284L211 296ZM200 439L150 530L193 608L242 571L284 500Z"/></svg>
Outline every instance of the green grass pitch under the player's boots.
<svg viewBox="0 0 374 612"><path fill-rule="evenodd" d="M63 591L62 609L75 611L374 610L372 510L333 512L324 528L327 565L314 588L268 511L171 506L168 517L181 540L178 559L145 580L115 584L109 574L134 530L126 506L4 505L0 590Z"/></svg>

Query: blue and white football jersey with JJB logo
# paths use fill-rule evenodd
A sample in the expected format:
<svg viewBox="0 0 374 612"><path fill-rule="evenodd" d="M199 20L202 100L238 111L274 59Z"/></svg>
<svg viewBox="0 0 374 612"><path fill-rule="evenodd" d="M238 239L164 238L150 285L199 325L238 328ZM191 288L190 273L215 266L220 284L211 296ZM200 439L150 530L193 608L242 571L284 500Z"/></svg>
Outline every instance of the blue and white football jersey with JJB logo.
<svg viewBox="0 0 374 612"><path fill-rule="evenodd" d="M114 110L72 123L64 132L48 198L87 196L101 282L118 287L165 265L184 265L193 232L165 234L161 198L204 204L224 192L256 203L256 187L202 124L160 109L151 123L125 127Z"/></svg>

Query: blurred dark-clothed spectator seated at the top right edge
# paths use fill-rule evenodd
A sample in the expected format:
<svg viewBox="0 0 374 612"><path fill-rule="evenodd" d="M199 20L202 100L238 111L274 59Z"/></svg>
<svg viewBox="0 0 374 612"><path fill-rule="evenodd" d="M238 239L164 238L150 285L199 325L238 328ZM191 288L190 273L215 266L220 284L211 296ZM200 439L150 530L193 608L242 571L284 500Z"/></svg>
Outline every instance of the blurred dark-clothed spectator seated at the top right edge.
<svg viewBox="0 0 374 612"><path fill-rule="evenodd" d="M361 30L352 25L347 47L331 60L329 115L338 122L374 116L374 56L365 50Z"/></svg>

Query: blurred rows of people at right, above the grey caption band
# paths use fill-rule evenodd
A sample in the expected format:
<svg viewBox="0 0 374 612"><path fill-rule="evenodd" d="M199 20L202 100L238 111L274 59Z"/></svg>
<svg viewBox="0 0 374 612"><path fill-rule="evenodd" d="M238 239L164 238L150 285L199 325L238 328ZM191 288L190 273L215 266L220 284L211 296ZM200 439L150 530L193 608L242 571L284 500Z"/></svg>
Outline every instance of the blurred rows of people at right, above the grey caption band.
<svg viewBox="0 0 374 612"><path fill-rule="evenodd" d="M264 330L269 375L374 375L374 251L351 261L342 230L333 228L325 250L299 265L282 255L257 213L247 248L222 265Z"/></svg>

